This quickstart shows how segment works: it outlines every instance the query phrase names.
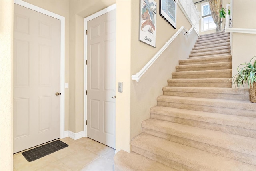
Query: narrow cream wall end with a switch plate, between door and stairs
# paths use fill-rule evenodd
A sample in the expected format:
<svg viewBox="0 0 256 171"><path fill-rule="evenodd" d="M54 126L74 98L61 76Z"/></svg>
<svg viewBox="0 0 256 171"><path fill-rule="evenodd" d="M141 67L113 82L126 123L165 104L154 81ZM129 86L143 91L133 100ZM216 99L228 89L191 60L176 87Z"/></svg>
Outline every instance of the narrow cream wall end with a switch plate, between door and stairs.
<svg viewBox="0 0 256 171"><path fill-rule="evenodd" d="M124 14L125 11L125 15ZM125 21L125 22L124 22ZM124 24L126 23L126 24ZM137 27L138 28L138 27ZM125 34L124 34L125 33ZM132 1L116 1L116 87L123 82L123 92L116 90L116 151L130 151L130 86L132 46Z"/></svg>

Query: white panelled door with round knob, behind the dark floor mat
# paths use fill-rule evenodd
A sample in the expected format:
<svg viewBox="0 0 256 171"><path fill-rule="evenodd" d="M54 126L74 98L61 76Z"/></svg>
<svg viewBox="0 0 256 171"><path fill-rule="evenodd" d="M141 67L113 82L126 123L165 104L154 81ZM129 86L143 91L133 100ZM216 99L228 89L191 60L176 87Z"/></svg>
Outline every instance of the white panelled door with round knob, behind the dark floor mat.
<svg viewBox="0 0 256 171"><path fill-rule="evenodd" d="M14 4L14 153L60 138L60 20Z"/></svg>

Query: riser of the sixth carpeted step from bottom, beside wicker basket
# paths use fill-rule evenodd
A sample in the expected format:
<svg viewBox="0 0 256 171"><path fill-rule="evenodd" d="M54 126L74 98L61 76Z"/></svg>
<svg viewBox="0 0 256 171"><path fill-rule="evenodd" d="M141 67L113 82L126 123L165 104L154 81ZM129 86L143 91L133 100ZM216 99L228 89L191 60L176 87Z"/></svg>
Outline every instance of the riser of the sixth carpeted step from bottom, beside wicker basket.
<svg viewBox="0 0 256 171"><path fill-rule="evenodd" d="M226 99L226 100L243 100L250 101L249 95L237 94L217 94L217 93L193 93L193 92L177 92L177 91L163 91L163 95L179 96L179 97L195 97L195 98L209 98L209 99Z"/></svg>

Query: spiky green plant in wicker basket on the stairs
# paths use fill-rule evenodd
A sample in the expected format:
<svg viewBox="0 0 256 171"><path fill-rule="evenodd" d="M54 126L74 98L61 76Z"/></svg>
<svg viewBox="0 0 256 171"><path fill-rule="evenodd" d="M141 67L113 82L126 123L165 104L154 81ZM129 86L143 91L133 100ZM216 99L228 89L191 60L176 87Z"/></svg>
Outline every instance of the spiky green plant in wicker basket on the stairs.
<svg viewBox="0 0 256 171"><path fill-rule="evenodd" d="M246 83L248 84L248 87L250 87L252 103L256 103L256 60L252 63L252 60L255 57L256 56L254 56L248 63L240 64L237 67L238 74L232 77L233 83L237 85L238 88L244 86ZM239 68L240 66L242 66L242 68Z"/></svg>

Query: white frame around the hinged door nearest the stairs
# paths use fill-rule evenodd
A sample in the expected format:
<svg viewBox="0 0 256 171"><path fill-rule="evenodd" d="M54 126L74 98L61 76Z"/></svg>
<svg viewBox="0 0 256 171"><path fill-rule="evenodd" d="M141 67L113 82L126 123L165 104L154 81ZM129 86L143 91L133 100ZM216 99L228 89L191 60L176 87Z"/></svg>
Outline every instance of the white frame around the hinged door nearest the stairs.
<svg viewBox="0 0 256 171"><path fill-rule="evenodd" d="M97 18L98 16L101 16L103 14L106 14L112 10L116 9L116 4L113 4L103 10L100 10L99 12L96 12L86 18L84 18L84 137L87 137L87 125L86 125L86 120L87 120L87 96L86 96L86 90L87 90L87 35L86 35L86 30L87 30L87 22Z"/></svg>

